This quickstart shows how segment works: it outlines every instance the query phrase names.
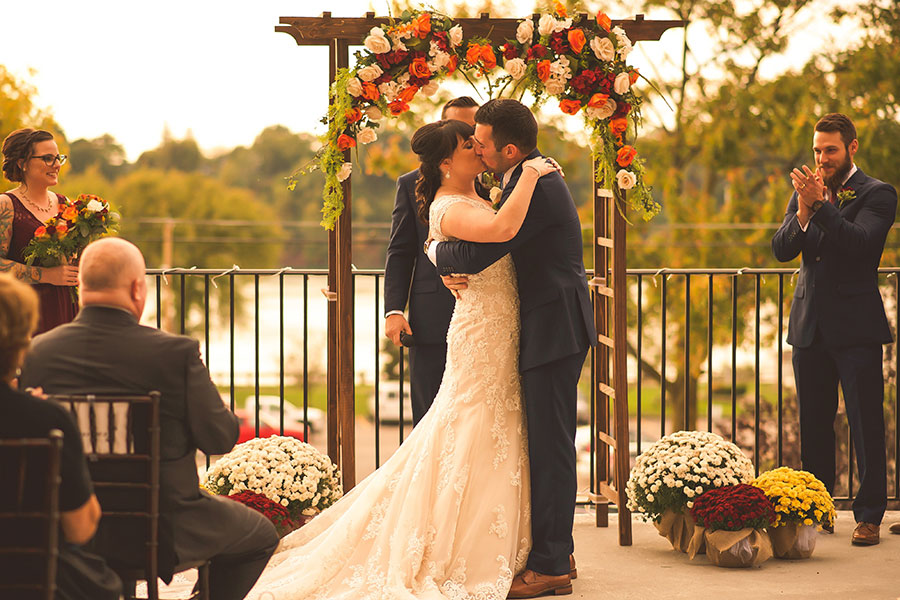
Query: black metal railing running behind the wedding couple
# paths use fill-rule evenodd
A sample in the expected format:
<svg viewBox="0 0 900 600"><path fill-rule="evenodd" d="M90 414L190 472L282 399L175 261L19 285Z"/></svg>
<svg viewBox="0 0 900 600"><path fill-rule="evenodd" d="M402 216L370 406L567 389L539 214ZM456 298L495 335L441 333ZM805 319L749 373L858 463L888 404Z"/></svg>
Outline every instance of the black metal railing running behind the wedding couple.
<svg viewBox="0 0 900 600"><path fill-rule="evenodd" d="M881 269L880 276L894 330L900 322L898 271ZM327 285L327 271L235 267L151 269L148 275L156 300L148 311L151 323L202 340L213 378L227 390L232 409L239 406L239 394L252 401L258 434L261 399L277 397L278 429L285 431L286 408L297 407L304 438L309 440L312 433L315 442L310 414L325 407L326 300L319 289ZM373 419L371 430L357 431L358 438L371 436L365 443L357 441L357 453L368 456L357 460L358 470L379 466L411 427L403 401L408 392L405 352L383 341L383 276L382 270L354 271L357 413ZM632 455L667 433L697 428L740 445L753 456L757 471L800 466L792 369L783 365L789 355L783 339L796 276L794 269L628 271ZM895 344L885 349L889 495L896 502L900 356ZM382 373L386 361L396 377ZM590 363L580 387L590 399L593 428ZM393 390L398 406L385 416L382 392ZM391 423L386 423L389 417ZM846 502L853 497L855 461L846 419L838 423L844 452L836 499ZM584 456L579 463L590 465L584 469L587 481L582 489L594 491L595 446L588 437L590 444L580 446Z"/></svg>

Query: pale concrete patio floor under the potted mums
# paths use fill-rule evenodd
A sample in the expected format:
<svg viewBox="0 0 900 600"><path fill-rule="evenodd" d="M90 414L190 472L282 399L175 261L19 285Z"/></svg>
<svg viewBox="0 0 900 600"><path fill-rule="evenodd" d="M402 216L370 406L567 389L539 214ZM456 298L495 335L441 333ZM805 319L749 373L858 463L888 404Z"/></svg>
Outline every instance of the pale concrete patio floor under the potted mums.
<svg viewBox="0 0 900 600"><path fill-rule="evenodd" d="M900 600L900 535L888 533L900 512L888 512L881 544L850 544L855 523L848 511L838 513L834 535L820 533L809 560L769 559L755 569L723 569L705 556L691 561L672 550L650 523L632 522L633 544L619 546L618 518L595 527L593 512L575 515L578 579L568 598L589 600ZM186 598L194 573L177 575L161 598Z"/></svg>

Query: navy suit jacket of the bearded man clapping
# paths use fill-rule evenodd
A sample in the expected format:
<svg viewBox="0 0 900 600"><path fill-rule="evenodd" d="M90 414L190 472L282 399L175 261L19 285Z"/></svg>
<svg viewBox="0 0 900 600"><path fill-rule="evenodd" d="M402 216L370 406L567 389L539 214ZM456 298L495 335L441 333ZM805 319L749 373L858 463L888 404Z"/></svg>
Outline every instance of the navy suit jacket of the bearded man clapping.
<svg viewBox="0 0 900 600"><path fill-rule="evenodd" d="M805 232L797 222L795 192L772 238L779 261L803 255L788 325L792 346L809 347L816 328L831 347L892 341L878 292L878 264L894 223L897 192L859 169L844 189L853 190L855 198L842 206L824 203Z"/></svg>

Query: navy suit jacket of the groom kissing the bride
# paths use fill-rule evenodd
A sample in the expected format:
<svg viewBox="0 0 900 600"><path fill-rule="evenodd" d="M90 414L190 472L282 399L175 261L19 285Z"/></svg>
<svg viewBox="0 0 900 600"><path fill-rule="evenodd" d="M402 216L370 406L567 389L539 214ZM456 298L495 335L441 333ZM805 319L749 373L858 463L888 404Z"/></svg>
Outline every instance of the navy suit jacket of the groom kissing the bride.
<svg viewBox="0 0 900 600"><path fill-rule="evenodd" d="M527 158L540 156L534 150ZM512 193L522 165L513 171L501 202ZM581 222L559 173L538 179L522 228L503 243L444 242L438 272L478 273L512 253L522 320L519 370L554 362L596 345L596 330L582 255Z"/></svg>

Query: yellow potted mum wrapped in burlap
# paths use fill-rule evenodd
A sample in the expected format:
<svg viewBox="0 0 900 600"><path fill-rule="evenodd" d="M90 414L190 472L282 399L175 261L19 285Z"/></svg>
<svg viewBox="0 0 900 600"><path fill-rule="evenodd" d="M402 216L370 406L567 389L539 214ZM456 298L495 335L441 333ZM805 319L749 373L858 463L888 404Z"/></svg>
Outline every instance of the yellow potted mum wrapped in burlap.
<svg viewBox="0 0 900 600"><path fill-rule="evenodd" d="M800 559L812 556L816 531L834 526L834 501L815 475L790 467L766 471L753 481L775 510L769 527L776 558Z"/></svg>

